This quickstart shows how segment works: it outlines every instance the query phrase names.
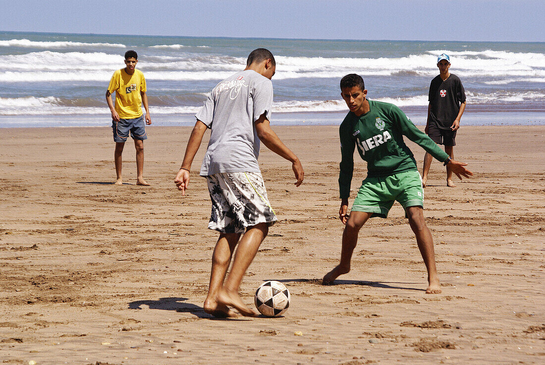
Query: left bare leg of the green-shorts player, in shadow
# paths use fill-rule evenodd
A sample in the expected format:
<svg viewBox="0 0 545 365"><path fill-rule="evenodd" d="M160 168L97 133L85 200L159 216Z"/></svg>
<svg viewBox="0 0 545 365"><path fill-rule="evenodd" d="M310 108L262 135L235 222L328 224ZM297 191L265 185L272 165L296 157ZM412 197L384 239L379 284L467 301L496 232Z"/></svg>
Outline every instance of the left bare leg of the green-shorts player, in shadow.
<svg viewBox="0 0 545 365"><path fill-rule="evenodd" d="M358 243L358 233L371 215L372 213L366 212L350 213L342 234L341 262L333 270L325 274L322 284L331 285L338 276L350 271L350 260L352 260L352 253Z"/></svg>

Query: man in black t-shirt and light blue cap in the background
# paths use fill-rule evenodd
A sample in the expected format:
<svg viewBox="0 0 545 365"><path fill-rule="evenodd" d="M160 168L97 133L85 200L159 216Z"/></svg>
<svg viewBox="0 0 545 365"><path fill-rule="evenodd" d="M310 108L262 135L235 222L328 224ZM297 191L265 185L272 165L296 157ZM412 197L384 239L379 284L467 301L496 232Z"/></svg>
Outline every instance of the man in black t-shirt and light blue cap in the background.
<svg viewBox="0 0 545 365"><path fill-rule="evenodd" d="M445 146L445 152L454 158L456 131L465 110L465 91L458 76L449 72L450 58L443 53L437 58L440 74L429 85L428 119L424 131L438 145ZM422 186L426 187L432 155L426 152L422 171ZM446 185L455 187L452 171L446 167Z"/></svg>

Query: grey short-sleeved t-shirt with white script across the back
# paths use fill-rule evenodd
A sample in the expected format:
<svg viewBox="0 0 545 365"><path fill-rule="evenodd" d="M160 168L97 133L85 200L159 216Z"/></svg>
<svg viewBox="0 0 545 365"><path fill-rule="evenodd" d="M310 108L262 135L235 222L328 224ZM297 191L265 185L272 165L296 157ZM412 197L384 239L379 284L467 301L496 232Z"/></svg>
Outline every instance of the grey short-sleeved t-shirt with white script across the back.
<svg viewBox="0 0 545 365"><path fill-rule="evenodd" d="M272 83L253 70L240 71L212 89L195 117L211 129L201 176L219 172L260 172L255 122L270 118Z"/></svg>

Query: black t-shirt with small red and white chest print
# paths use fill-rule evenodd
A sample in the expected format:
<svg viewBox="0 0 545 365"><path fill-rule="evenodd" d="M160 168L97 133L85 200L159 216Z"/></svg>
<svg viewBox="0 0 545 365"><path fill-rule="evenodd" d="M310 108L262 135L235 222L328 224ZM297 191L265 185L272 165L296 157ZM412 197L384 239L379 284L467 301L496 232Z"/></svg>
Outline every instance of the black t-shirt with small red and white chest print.
<svg viewBox="0 0 545 365"><path fill-rule="evenodd" d="M441 129L450 129L458 116L460 104L465 101L465 90L459 77L450 74L443 81L441 75L435 76L429 84L430 117Z"/></svg>

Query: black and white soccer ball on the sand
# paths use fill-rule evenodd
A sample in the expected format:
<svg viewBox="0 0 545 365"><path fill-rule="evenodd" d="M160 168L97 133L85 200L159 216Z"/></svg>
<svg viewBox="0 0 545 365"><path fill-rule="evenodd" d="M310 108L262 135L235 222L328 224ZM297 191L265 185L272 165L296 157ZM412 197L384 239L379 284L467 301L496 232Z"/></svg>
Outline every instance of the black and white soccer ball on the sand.
<svg viewBox="0 0 545 365"><path fill-rule="evenodd" d="M290 295L284 284L270 280L257 288L253 300L259 313L268 317L277 317L288 309Z"/></svg>

